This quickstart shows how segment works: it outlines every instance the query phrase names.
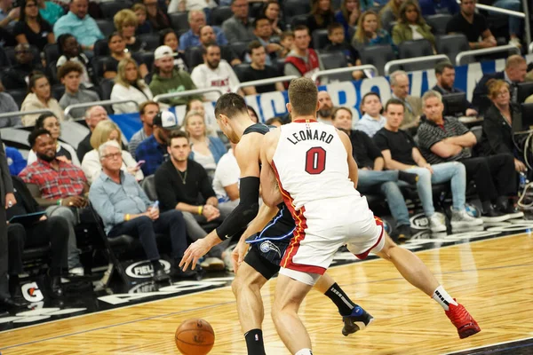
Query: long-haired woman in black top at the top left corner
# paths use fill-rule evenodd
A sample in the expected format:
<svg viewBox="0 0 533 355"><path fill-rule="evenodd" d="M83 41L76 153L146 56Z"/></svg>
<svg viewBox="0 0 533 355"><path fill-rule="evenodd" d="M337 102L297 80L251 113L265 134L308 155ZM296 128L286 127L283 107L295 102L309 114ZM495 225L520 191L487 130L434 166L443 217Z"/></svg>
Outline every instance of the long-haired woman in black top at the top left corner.
<svg viewBox="0 0 533 355"><path fill-rule="evenodd" d="M18 43L33 44L39 51L43 51L46 44L55 43L52 26L41 18L37 0L23 0L20 9L20 20L13 28Z"/></svg>

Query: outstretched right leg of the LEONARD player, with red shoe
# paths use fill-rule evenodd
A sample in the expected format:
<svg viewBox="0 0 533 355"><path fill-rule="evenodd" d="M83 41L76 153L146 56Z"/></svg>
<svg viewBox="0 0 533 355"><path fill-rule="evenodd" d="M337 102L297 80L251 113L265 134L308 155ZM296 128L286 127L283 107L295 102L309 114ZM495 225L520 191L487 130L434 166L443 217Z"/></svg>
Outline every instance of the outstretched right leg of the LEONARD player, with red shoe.
<svg viewBox="0 0 533 355"><path fill-rule="evenodd" d="M398 247L386 233L385 245L377 252L377 255L391 261L405 280L440 304L453 325L457 327L457 333L461 339L481 331L465 307L449 296L426 264L410 250Z"/></svg>

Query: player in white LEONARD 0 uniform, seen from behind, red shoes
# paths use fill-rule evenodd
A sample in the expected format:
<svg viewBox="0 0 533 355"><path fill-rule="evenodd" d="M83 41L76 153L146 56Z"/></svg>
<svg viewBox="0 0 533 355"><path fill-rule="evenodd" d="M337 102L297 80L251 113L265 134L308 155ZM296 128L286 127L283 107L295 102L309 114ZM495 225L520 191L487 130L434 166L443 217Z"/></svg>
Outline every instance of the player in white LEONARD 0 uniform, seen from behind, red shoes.
<svg viewBox="0 0 533 355"><path fill-rule="evenodd" d="M434 279L417 256L386 235L367 201L355 190L357 164L346 133L316 121L317 90L308 78L293 80L287 109L292 122L265 135L261 186L269 206L290 209L296 230L282 258L272 318L292 354L312 355L298 308L339 247L359 258L370 252L391 260L402 276L442 305L461 338L481 329Z"/></svg>

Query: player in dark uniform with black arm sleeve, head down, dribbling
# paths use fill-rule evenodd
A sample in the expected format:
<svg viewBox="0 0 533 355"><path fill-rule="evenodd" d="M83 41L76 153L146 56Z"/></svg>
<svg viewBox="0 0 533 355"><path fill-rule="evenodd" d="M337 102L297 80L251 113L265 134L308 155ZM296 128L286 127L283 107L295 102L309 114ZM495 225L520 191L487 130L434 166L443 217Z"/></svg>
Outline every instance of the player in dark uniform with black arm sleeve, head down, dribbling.
<svg viewBox="0 0 533 355"><path fill-rule="evenodd" d="M220 97L215 115L227 138L237 143L235 158L241 169L240 201L219 228L187 249L179 265L187 270L188 264L192 262L192 267L195 268L198 259L214 245L239 233L253 220L233 254L235 280L232 288L237 299L237 311L248 353L265 354L261 331L264 311L260 289L279 271L279 264L289 245L295 224L283 204L279 205L279 209L269 208L267 205L259 209L259 152L268 127L251 121L244 99L233 93ZM246 238L255 233L259 235L251 241L250 252L246 254ZM243 258L244 255L246 257ZM354 304L329 275L324 274L315 288L338 306L338 312L344 320L343 335L362 330L372 321L370 314Z"/></svg>

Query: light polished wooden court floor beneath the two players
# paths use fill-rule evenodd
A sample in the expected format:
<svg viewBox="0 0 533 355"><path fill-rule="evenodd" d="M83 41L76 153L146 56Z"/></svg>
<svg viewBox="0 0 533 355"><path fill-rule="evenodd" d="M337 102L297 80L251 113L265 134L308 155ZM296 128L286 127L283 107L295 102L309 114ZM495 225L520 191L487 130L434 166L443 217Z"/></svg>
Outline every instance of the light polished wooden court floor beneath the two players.
<svg viewBox="0 0 533 355"><path fill-rule="evenodd" d="M340 334L330 300L307 296L301 315L315 354L443 354L533 336L533 237L521 234L419 252L451 296L465 304L481 333L459 340L441 307L383 260L330 269L346 292L376 320L363 332ZM288 354L274 331L275 280L264 288L267 354ZM245 354L230 288L178 296L0 334L8 354L178 354L174 331L203 318L215 329L211 354Z"/></svg>

